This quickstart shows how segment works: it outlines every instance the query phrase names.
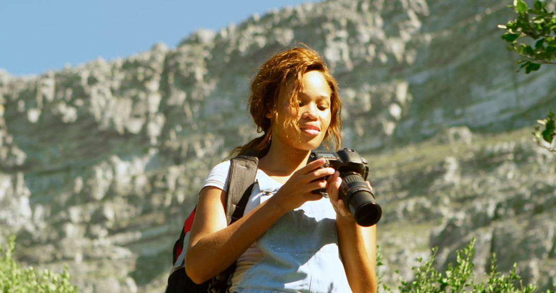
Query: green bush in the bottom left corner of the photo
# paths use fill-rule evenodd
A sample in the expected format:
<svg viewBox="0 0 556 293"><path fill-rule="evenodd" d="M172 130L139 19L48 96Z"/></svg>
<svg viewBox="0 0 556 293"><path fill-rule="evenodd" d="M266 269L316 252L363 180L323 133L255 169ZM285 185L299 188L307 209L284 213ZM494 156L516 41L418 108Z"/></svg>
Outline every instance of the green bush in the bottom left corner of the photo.
<svg viewBox="0 0 556 293"><path fill-rule="evenodd" d="M37 272L33 267L21 267L12 258L15 246L15 236L9 238L6 252L3 252L3 248L0 246L0 292L77 292L77 287L69 282L67 266L64 267L62 274L56 274L49 270Z"/></svg>

